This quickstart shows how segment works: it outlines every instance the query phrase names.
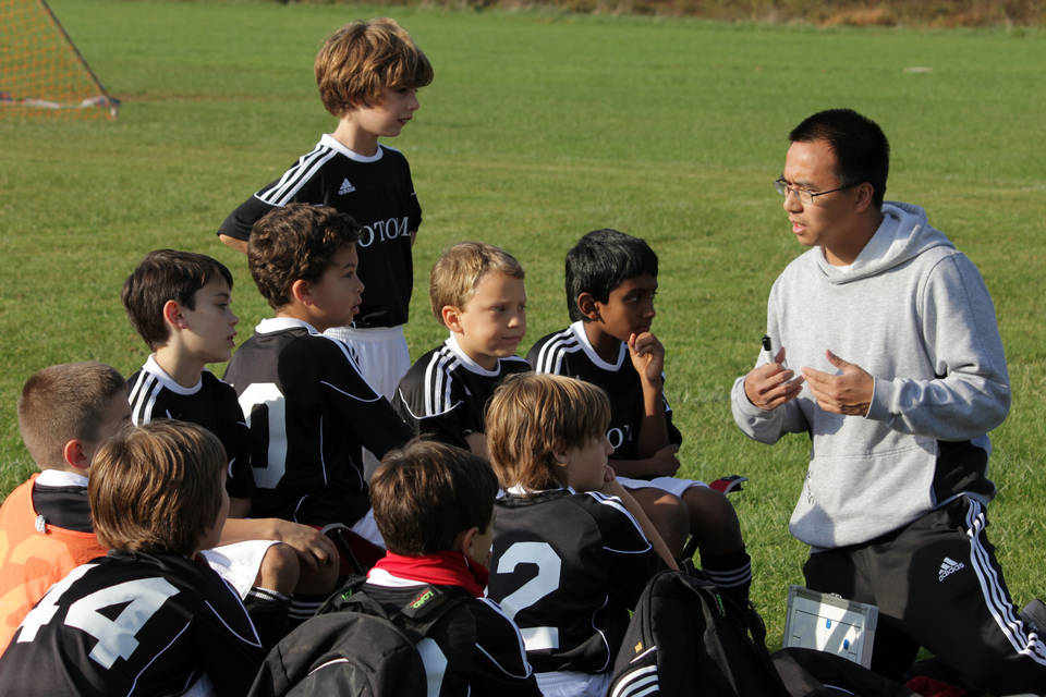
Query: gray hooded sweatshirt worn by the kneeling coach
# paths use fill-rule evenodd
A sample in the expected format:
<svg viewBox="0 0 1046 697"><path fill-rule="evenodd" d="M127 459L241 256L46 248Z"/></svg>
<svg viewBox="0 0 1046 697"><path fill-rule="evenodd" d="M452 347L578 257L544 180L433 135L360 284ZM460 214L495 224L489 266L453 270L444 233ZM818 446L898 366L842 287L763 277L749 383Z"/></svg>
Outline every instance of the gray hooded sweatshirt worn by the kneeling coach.
<svg viewBox="0 0 1046 697"><path fill-rule="evenodd" d="M744 377L731 394L734 421L749 437L774 443L810 433L790 529L815 548L867 541L960 493L982 501L995 494L986 456L964 477L939 472L937 457L939 441L990 452L986 433L1009 412L992 298L976 267L929 227L922 208L887 201L883 213L850 267L830 266L813 247L778 277L767 303L774 353L783 345L796 374L805 366L838 372L825 357L830 350L875 378L868 414L825 412L805 386L768 412L749 401ZM761 354L759 364L766 360Z"/></svg>

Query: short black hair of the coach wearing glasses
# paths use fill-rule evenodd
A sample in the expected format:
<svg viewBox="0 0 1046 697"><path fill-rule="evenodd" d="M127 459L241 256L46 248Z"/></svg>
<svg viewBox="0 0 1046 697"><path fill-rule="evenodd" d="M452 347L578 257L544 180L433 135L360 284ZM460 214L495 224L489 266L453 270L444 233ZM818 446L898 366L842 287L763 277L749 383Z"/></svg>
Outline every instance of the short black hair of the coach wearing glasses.
<svg viewBox="0 0 1046 697"><path fill-rule="evenodd" d="M839 167L840 186L868 182L875 187L873 203L883 207L886 176L890 171L890 144L875 121L853 109L828 109L806 117L788 134L792 143L827 140Z"/></svg>

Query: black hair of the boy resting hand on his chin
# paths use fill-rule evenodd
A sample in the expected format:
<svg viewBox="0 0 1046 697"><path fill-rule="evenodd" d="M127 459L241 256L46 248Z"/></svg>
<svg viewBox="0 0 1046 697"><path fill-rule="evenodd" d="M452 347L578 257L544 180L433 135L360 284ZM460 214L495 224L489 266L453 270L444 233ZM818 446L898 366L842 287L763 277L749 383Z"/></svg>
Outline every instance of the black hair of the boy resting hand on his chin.
<svg viewBox="0 0 1046 697"><path fill-rule="evenodd" d="M617 230L593 230L567 253L567 310L570 320L587 318L577 308L577 297L589 293L600 303L628 279L649 273L657 278L657 255L645 240Z"/></svg>

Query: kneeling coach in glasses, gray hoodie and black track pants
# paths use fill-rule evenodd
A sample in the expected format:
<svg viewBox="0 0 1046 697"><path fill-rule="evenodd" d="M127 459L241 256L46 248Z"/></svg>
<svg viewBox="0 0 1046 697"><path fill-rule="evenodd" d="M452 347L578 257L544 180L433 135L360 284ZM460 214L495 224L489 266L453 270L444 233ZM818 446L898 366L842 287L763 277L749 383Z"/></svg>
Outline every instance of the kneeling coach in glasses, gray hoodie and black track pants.
<svg viewBox="0 0 1046 697"><path fill-rule="evenodd" d="M923 646L971 687L1041 692L1046 644L984 533L987 432L1010 406L984 281L922 208L883 200L874 122L834 109L789 137L776 186L811 249L774 283L769 350L731 402L753 439L811 437L790 523L806 584L879 607L877 672L902 680Z"/></svg>

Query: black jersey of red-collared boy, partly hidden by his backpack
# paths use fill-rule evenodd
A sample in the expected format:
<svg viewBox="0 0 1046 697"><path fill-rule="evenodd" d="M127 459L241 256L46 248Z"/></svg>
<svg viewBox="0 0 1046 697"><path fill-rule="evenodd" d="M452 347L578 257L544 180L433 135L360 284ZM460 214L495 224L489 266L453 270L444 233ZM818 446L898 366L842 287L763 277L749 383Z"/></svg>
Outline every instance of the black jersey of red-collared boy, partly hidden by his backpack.
<svg viewBox="0 0 1046 697"><path fill-rule="evenodd" d="M363 589L393 610L414 600L425 585L372 571ZM437 588L467 595L457 586ZM448 612L418 643L417 650L425 663L429 695L542 694L526 661L519 629L495 602L485 598L470 598ZM438 692L433 690L434 685L439 685Z"/></svg>

